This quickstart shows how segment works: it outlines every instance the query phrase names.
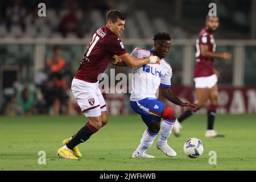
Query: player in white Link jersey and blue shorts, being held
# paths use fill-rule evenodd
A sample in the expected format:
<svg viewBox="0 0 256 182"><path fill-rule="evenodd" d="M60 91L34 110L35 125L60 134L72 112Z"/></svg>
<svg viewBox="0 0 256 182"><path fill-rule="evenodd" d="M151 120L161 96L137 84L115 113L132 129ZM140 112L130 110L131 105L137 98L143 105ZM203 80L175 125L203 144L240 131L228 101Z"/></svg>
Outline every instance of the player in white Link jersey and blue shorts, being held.
<svg viewBox="0 0 256 182"><path fill-rule="evenodd" d="M172 68L164 59L171 47L170 40L169 34L159 32L154 35L154 47L152 49L135 48L131 53L132 56L138 58L149 57L151 54L161 58L159 64L146 64L134 69L130 105L136 113L141 115L148 128L144 131L137 150L133 152L133 158L154 158L145 152L154 142L158 132L159 139L156 147L167 156L177 155L167 144L176 116L170 106L156 99L155 95L159 86L162 95L167 100L183 107L183 109L195 110L197 108L189 102L179 100L170 89ZM160 122L161 118L164 118L162 123Z"/></svg>

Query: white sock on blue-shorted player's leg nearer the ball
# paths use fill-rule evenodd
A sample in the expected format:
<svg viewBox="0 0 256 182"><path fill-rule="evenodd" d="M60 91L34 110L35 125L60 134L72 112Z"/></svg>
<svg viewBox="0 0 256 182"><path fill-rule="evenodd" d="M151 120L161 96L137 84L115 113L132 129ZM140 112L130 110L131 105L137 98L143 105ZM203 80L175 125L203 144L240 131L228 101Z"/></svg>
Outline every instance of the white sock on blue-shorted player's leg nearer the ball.
<svg viewBox="0 0 256 182"><path fill-rule="evenodd" d="M167 144L167 140L172 133L172 127L174 127L175 120L164 119L160 126L158 144Z"/></svg>

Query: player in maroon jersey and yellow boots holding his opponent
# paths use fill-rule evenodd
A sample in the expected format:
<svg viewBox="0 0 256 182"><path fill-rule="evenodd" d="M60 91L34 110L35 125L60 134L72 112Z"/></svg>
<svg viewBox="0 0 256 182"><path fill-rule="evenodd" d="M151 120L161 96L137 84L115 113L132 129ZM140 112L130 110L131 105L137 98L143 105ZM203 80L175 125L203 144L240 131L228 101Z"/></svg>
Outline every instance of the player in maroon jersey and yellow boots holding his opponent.
<svg viewBox="0 0 256 182"><path fill-rule="evenodd" d="M73 95L89 122L73 137L63 141L64 146L57 151L57 155L61 158L77 159L77 157L81 157L77 145L88 140L108 122L106 104L101 90L98 88L98 80L100 79L99 75L104 73L113 56L116 55L115 59L118 56L129 67L160 62L158 56L151 55L144 59L132 57L119 38L125 30L124 26L125 15L119 10L110 10L106 14L106 26L99 28L89 43L71 86Z"/></svg>

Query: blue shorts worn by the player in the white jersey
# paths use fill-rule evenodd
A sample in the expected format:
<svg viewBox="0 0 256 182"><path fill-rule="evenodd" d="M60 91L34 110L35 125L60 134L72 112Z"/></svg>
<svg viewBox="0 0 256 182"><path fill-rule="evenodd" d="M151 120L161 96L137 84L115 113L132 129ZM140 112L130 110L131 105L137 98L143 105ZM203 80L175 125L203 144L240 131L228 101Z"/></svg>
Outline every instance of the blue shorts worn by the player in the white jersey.
<svg viewBox="0 0 256 182"><path fill-rule="evenodd" d="M163 102L160 102L156 98L143 98L139 101L130 101L131 108L141 115L142 120L146 125L150 125L155 121L161 121L161 115L163 113Z"/></svg>

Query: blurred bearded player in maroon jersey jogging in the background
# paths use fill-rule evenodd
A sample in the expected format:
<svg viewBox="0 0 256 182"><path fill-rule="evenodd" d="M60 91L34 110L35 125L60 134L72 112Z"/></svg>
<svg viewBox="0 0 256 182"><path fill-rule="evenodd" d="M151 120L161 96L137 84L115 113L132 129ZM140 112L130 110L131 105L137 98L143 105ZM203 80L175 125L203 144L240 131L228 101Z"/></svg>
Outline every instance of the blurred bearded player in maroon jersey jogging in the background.
<svg viewBox="0 0 256 182"><path fill-rule="evenodd" d="M206 27L200 31L199 38L196 40L196 65L193 73L197 96L195 104L198 109L200 109L206 105L208 99L210 100L207 113L208 126L205 137L224 137L224 135L217 134L217 132L213 130L218 104L218 72L214 68L213 59L230 60L232 56L229 53L215 53L216 44L213 32L218 28L218 16L207 15L205 23ZM179 136L179 130L181 128L180 123L193 113L195 113L195 111L185 110L184 113L177 118L173 129L176 137Z"/></svg>

